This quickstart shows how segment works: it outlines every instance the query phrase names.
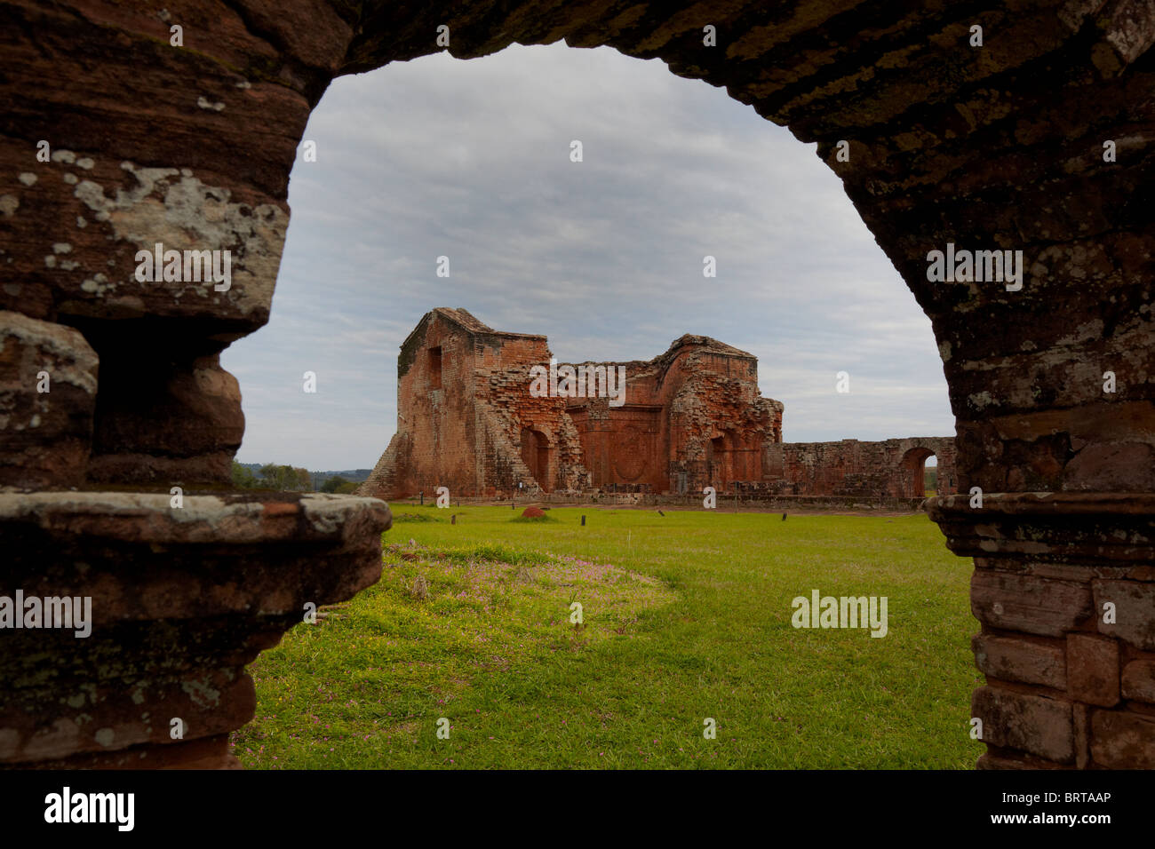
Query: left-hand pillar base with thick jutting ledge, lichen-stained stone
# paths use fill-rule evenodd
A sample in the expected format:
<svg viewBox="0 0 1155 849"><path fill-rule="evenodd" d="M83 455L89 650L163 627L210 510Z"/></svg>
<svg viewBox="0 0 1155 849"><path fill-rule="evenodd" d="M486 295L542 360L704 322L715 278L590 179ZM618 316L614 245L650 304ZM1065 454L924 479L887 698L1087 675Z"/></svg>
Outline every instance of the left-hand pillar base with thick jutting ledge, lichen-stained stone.
<svg viewBox="0 0 1155 849"><path fill-rule="evenodd" d="M0 632L0 765L236 766L245 666L311 627L306 603L377 582L388 526L348 496L0 494L0 595L83 603L70 627Z"/></svg>

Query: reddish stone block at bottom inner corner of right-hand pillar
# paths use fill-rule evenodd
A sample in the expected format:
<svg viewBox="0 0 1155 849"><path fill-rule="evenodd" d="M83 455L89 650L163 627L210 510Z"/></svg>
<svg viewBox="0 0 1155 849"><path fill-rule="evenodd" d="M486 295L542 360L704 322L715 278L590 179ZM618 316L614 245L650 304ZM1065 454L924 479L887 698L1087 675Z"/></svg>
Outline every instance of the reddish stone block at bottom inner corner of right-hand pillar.
<svg viewBox="0 0 1155 849"><path fill-rule="evenodd" d="M1071 702L979 687L970 698L971 716L983 721L983 742L1019 749L1056 764L1075 757Z"/></svg>

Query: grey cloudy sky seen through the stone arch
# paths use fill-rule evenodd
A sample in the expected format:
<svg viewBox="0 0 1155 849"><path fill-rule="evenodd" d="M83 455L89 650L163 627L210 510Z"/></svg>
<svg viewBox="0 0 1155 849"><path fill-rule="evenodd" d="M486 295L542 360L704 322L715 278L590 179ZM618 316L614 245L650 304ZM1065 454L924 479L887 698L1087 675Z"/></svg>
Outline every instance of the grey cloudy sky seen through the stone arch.
<svg viewBox="0 0 1155 849"><path fill-rule="evenodd" d="M841 183L722 89L609 47L442 53L335 81L305 139L273 318L222 356L243 462L372 467L435 306L562 362L714 336L758 357L787 441L954 434L930 320Z"/></svg>

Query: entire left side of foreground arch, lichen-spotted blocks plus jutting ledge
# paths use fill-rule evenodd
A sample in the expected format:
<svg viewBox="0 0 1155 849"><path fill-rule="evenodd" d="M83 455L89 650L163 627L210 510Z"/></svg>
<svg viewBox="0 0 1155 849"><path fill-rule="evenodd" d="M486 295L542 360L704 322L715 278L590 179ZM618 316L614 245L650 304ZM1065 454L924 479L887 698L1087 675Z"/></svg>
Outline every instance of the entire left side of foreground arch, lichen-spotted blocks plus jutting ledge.
<svg viewBox="0 0 1155 849"><path fill-rule="evenodd" d="M350 27L322 2L0 17L0 616L35 598L15 613L39 626L0 630L0 766L236 766L246 664L378 580L390 521L221 491L244 416L219 352L268 320L289 170ZM142 280L157 244L228 252L230 277Z"/></svg>

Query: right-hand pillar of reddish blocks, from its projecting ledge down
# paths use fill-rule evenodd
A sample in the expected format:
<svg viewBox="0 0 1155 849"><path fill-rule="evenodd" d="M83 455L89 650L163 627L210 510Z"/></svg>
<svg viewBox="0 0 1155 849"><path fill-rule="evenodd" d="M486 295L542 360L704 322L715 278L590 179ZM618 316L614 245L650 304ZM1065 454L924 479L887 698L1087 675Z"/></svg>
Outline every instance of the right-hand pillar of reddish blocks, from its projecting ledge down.
<svg viewBox="0 0 1155 849"><path fill-rule="evenodd" d="M1155 768L1155 493L932 499L975 558L978 766Z"/></svg>

